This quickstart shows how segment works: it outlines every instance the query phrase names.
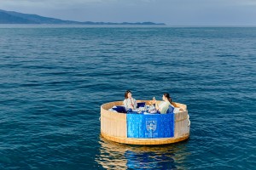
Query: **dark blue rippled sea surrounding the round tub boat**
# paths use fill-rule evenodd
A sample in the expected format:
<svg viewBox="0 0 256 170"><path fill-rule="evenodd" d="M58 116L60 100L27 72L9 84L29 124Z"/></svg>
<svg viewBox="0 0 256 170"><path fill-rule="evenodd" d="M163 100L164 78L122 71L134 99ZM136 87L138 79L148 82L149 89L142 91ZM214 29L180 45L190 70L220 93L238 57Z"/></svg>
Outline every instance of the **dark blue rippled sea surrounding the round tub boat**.
<svg viewBox="0 0 256 170"><path fill-rule="evenodd" d="M0 169L255 169L255 27L0 26ZM190 138L100 136L100 106L188 105Z"/></svg>

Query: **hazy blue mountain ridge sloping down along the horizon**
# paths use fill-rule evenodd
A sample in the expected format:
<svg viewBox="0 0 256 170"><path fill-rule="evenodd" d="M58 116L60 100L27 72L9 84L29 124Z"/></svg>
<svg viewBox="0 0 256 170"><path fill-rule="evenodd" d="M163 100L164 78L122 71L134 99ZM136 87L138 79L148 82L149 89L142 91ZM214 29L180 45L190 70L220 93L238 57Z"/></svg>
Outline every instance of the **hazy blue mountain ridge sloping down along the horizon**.
<svg viewBox="0 0 256 170"><path fill-rule="evenodd" d="M50 24L50 25L165 25L164 23L154 22L79 22L73 20L60 20L40 16L38 14L22 14L14 11L5 11L0 9L0 24Z"/></svg>

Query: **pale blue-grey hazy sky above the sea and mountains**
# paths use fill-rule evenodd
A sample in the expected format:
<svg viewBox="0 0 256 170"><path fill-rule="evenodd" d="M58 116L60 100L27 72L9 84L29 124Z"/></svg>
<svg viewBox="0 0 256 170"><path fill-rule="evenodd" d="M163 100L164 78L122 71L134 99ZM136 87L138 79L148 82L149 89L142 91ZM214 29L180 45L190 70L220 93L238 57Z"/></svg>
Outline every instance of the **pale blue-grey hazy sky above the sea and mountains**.
<svg viewBox="0 0 256 170"><path fill-rule="evenodd" d="M256 26L256 0L0 0L0 9L61 20Z"/></svg>

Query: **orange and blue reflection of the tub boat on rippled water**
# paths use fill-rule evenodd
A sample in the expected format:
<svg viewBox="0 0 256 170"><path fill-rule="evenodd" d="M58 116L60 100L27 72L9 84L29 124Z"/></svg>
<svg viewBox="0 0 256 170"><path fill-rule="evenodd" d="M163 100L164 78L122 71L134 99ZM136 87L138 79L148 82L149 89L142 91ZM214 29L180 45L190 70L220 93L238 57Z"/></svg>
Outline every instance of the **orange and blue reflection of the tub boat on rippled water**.
<svg viewBox="0 0 256 170"><path fill-rule="evenodd" d="M186 169L189 152L184 141L178 144L141 146L118 144L100 137L96 161L106 169Z"/></svg>

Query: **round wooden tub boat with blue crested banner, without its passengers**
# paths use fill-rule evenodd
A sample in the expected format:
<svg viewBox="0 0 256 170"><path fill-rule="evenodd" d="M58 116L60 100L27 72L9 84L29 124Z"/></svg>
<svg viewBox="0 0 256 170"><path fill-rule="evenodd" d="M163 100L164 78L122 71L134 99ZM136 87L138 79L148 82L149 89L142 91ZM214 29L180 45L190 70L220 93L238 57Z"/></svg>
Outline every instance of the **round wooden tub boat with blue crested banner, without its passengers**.
<svg viewBox="0 0 256 170"><path fill-rule="evenodd" d="M149 100L137 100L137 103ZM159 101L158 101L159 102ZM190 121L187 105L173 103L183 108L168 114L125 114L108 111L123 101L115 101L101 106L102 137L122 144L171 144L189 138Z"/></svg>

